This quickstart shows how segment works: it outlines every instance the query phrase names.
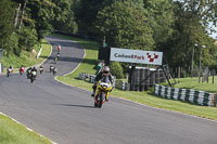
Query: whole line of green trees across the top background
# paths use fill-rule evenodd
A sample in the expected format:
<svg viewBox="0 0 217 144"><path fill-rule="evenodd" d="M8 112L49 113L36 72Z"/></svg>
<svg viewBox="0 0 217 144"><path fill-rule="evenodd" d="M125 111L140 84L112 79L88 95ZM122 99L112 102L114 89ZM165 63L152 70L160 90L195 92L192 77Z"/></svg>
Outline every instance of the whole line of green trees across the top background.
<svg viewBox="0 0 217 144"><path fill-rule="evenodd" d="M216 68L216 0L1 0L0 49L20 55L56 29L161 51L173 67L196 65L202 52L202 64Z"/></svg>

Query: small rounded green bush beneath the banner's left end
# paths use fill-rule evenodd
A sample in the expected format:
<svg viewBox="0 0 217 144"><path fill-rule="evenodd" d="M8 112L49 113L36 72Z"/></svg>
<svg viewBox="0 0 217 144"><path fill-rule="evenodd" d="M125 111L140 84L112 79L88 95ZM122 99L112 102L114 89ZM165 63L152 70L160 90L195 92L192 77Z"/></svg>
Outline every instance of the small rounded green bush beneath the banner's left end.
<svg viewBox="0 0 217 144"><path fill-rule="evenodd" d="M118 62L114 62L110 65L112 75L116 76L117 79L124 78L124 69Z"/></svg>

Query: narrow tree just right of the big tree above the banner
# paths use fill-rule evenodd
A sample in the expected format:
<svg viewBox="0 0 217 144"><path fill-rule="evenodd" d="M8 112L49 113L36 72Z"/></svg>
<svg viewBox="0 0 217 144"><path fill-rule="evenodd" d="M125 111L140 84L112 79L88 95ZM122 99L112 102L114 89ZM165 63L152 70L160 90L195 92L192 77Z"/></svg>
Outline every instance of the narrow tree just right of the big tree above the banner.
<svg viewBox="0 0 217 144"><path fill-rule="evenodd" d="M156 50L162 48L173 34L175 23L173 0L144 0L144 9L149 12L149 23L153 29Z"/></svg>

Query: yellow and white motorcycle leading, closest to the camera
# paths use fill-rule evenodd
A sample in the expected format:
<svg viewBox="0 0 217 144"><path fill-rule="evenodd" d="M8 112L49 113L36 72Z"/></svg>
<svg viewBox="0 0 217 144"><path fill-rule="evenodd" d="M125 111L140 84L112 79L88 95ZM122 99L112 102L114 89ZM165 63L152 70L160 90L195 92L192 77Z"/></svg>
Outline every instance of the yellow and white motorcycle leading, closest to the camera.
<svg viewBox="0 0 217 144"><path fill-rule="evenodd" d="M110 92L113 87L108 77L104 77L97 83L97 90L94 94L94 107L102 107L102 104L105 103L105 99L108 100Z"/></svg>

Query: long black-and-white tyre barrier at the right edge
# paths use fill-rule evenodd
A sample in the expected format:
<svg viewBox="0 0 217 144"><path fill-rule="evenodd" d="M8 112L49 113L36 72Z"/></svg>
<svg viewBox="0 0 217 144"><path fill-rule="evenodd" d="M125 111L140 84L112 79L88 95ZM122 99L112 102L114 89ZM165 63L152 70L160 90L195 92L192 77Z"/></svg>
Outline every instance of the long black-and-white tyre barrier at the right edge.
<svg viewBox="0 0 217 144"><path fill-rule="evenodd" d="M154 93L155 95L165 99L180 100L204 106L216 107L216 102L217 102L216 93L196 91L192 89L178 89L178 88L170 88L170 87L155 84Z"/></svg>

